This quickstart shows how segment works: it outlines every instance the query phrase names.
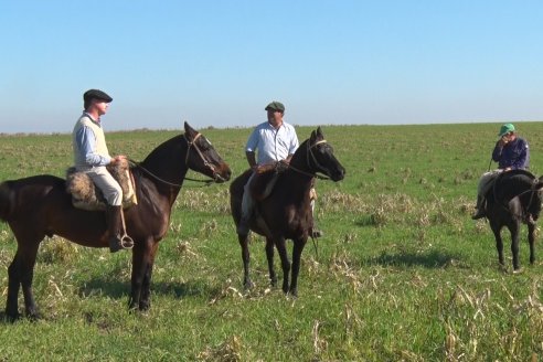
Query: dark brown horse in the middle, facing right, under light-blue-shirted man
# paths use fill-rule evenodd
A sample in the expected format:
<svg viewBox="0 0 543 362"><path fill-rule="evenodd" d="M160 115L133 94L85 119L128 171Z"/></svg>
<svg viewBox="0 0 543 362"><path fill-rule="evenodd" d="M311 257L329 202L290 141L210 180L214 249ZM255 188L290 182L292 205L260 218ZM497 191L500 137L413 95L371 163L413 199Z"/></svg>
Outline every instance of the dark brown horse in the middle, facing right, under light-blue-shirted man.
<svg viewBox="0 0 543 362"><path fill-rule="evenodd" d="M256 210L259 215L257 219L260 221L254 219L249 224L252 231L266 237L266 257L272 285L277 285L274 269L275 246L281 259L283 291L294 296L297 295L301 252L309 231L313 227L309 192L317 172L328 175L333 181L342 180L345 174L345 170L333 156L332 147L324 140L320 127L300 145L290 160L289 168L279 174L269 196L257 202ZM230 187L232 216L236 226L242 215L244 185L251 174L251 170L245 171ZM242 246L244 286L251 288L253 283L249 277L248 234L238 234L237 237ZM287 238L294 242L292 265L287 255ZM292 274L289 285L290 267Z"/></svg>

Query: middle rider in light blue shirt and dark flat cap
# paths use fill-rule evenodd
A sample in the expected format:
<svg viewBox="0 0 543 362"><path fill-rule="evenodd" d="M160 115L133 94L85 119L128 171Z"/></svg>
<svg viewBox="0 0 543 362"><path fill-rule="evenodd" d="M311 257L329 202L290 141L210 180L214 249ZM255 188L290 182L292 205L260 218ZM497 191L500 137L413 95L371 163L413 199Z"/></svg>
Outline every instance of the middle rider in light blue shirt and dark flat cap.
<svg viewBox="0 0 543 362"><path fill-rule="evenodd" d="M237 226L237 233L242 235L247 235L249 231L248 224L255 209L252 185L257 182L256 179L259 174L268 170L280 170L288 167L292 155L299 146L295 128L283 120L285 115L283 103L272 102L264 110L267 111L268 120L256 126L245 147L245 156L253 174L245 184L245 192L243 193L242 219ZM256 151L258 151L258 160L255 157ZM266 189L273 189L276 180L276 178L272 178ZM311 193L315 195L315 190L311 190ZM311 205L315 205L315 200L312 200ZM315 226L311 228L310 234L313 237L322 235Z"/></svg>

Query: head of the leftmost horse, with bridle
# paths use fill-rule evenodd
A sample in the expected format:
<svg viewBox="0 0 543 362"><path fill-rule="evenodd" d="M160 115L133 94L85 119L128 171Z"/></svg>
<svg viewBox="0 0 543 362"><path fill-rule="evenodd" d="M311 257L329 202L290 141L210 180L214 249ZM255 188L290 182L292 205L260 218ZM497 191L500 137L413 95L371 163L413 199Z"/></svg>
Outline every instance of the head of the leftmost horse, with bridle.
<svg viewBox="0 0 543 362"><path fill-rule="evenodd" d="M203 136L184 123L184 138L188 143L185 163L196 172L201 172L212 178L215 182L225 182L230 180L232 171L215 148Z"/></svg>

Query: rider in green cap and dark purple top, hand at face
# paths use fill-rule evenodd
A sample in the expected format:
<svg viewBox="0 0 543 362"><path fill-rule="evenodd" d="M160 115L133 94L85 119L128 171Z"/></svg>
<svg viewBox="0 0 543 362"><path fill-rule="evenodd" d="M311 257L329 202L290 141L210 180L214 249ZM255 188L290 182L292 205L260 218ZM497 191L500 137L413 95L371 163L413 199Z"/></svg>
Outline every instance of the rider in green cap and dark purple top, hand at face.
<svg viewBox="0 0 543 362"><path fill-rule="evenodd" d="M524 170L528 169L530 164L530 149L528 148L528 142L523 138L517 136L517 130L512 124L501 126L498 137L499 139L492 151L492 160L498 162L498 169L485 172L479 181L476 205L477 212L471 216L473 220L487 215L485 196L490 191L494 184L496 178L500 173L510 170Z"/></svg>

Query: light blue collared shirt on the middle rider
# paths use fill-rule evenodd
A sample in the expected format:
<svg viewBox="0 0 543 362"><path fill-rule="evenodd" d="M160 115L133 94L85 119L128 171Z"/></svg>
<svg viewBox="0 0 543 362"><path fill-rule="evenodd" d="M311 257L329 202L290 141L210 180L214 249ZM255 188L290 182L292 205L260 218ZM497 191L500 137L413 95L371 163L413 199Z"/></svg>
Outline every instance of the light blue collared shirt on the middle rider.
<svg viewBox="0 0 543 362"><path fill-rule="evenodd" d="M266 164L286 159L294 155L298 148L298 136L296 129L283 123L279 128L274 128L268 121L255 127L251 134L245 150L257 152L257 163Z"/></svg>

